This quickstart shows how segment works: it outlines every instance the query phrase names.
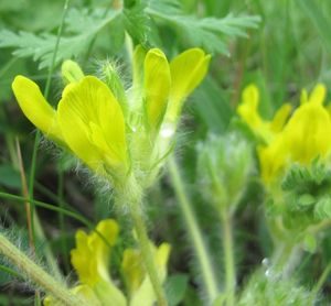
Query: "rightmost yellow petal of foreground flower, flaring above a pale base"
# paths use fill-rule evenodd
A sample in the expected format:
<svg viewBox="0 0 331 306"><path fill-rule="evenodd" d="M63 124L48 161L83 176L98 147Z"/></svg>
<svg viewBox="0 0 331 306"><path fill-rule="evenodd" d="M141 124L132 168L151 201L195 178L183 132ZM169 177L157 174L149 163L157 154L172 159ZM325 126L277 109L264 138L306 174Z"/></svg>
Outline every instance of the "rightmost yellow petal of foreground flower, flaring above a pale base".
<svg viewBox="0 0 331 306"><path fill-rule="evenodd" d="M175 121L183 100L200 85L207 73L211 55L201 48L190 48L170 63L171 90L167 119Z"/></svg>

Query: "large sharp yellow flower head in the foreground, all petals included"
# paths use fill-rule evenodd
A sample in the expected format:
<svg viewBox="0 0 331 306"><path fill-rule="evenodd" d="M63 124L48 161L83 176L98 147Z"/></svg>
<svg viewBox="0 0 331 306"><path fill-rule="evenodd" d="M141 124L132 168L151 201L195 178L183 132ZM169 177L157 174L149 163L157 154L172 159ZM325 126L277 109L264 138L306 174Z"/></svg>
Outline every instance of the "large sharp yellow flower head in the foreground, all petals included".
<svg viewBox="0 0 331 306"><path fill-rule="evenodd" d="M46 136L70 149L97 174L122 183L132 171L148 175L171 149L160 130L171 124L174 131L182 103L204 78L210 57L191 48L169 63L161 50L138 47L132 88L125 98L128 110L120 99L125 92L118 77L105 77L117 80L107 86L84 76L71 61L62 67L68 85L57 110L26 77L17 76L12 88L24 114Z"/></svg>

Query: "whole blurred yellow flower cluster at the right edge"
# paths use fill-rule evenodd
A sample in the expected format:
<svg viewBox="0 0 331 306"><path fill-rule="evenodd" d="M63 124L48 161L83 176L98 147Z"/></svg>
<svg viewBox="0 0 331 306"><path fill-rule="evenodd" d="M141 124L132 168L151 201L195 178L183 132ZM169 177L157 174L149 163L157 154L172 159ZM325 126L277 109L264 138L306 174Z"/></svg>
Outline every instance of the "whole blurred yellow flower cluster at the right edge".
<svg viewBox="0 0 331 306"><path fill-rule="evenodd" d="M293 163L309 165L314 159L325 161L331 150L331 117L323 106L327 89L319 84L310 95L302 90L300 106L290 116L284 105L273 121L260 118L258 90L254 85L244 90L239 116L264 140L258 147L261 177L265 183L277 181Z"/></svg>

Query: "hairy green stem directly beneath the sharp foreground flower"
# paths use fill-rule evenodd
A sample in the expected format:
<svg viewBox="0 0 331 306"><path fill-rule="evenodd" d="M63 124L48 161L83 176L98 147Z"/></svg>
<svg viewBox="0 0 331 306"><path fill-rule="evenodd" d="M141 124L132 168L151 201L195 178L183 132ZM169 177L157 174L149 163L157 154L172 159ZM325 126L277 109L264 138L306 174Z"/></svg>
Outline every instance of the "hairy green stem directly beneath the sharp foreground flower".
<svg viewBox="0 0 331 306"><path fill-rule="evenodd" d="M152 250L150 248L150 242L147 234L147 229L143 222L142 210L141 210L141 192L137 190L137 183L132 179L127 186L127 190L122 193L122 198L126 199L130 207L130 215L135 225L140 251L142 254L142 261L145 269L149 275L151 284L153 286L154 293L157 295L157 300L159 306L167 306L167 298L162 284L160 282L156 262L153 259ZM129 197L128 197L129 195Z"/></svg>

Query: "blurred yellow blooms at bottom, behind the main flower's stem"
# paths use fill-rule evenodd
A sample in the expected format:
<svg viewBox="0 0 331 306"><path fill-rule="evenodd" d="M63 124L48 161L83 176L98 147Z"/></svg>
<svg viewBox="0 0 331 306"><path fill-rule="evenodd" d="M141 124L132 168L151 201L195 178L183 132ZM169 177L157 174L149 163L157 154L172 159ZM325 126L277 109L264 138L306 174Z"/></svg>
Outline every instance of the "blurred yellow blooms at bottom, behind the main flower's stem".
<svg viewBox="0 0 331 306"><path fill-rule="evenodd" d="M88 305L93 306L152 306L157 298L139 250L127 249L122 254L120 275L124 277L127 297L111 280L109 262L118 232L118 225L113 219L100 221L96 231L89 234L82 230L76 232L76 248L72 250L71 256L78 274L79 285L72 288L72 293L82 296ZM160 281L163 283L167 276L170 244L162 243L157 248L150 242L150 247ZM45 306L55 306L56 303L51 296L44 300Z"/></svg>

